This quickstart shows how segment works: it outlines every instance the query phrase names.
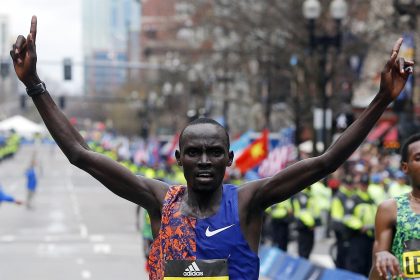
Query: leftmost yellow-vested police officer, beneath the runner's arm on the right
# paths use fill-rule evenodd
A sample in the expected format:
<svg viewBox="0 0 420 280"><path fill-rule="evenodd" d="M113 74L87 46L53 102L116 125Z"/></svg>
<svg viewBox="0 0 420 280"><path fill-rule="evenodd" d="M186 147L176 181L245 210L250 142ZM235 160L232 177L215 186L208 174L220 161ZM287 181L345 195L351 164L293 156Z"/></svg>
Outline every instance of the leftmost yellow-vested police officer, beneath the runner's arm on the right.
<svg viewBox="0 0 420 280"><path fill-rule="evenodd" d="M289 224L293 219L292 202L289 199L274 204L267 211L271 216L271 240L273 245L287 252Z"/></svg>

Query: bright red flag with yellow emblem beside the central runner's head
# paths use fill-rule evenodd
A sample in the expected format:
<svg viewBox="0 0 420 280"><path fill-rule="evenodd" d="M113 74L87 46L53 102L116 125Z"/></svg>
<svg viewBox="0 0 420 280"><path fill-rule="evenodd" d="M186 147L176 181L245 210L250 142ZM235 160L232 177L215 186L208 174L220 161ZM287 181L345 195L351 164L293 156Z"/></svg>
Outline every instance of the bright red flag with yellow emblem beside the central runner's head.
<svg viewBox="0 0 420 280"><path fill-rule="evenodd" d="M244 174L261 163L268 155L268 129L264 129L260 138L251 143L235 162L235 167Z"/></svg>

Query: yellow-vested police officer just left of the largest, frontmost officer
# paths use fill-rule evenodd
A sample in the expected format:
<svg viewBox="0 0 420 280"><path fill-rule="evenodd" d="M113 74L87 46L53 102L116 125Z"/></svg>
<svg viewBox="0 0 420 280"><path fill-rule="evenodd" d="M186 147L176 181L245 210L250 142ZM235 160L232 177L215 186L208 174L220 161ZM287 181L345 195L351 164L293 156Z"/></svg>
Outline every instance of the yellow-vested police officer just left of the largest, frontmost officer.
<svg viewBox="0 0 420 280"><path fill-rule="evenodd" d="M344 225L344 217L349 217L353 211L352 196L354 193L353 177L347 175L342 179L331 203L331 229L334 231L337 244L337 256L334 262L337 268L344 269L346 267L347 251L350 246L349 238L352 231Z"/></svg>

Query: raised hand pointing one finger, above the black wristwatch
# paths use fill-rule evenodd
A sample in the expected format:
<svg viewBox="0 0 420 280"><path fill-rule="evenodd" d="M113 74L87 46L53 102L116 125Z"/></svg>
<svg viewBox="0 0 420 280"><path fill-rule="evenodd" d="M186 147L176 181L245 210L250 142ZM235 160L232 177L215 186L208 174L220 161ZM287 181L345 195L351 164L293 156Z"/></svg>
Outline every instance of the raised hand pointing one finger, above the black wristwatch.
<svg viewBox="0 0 420 280"><path fill-rule="evenodd" d="M36 28L37 18L33 16L28 36L25 38L19 35L16 43L13 44L12 50L10 50L16 75L26 87L31 87L41 82L36 72Z"/></svg>

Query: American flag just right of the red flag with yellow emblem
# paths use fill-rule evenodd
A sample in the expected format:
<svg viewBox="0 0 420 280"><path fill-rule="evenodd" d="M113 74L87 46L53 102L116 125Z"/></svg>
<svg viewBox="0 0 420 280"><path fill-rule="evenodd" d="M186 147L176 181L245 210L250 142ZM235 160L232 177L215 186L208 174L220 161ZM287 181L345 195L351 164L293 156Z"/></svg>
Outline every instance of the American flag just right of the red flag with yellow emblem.
<svg viewBox="0 0 420 280"><path fill-rule="evenodd" d="M297 153L294 145L294 135L294 128L284 128L280 131L278 145L270 151L268 157L258 168L258 174L262 178L273 176L296 160Z"/></svg>

